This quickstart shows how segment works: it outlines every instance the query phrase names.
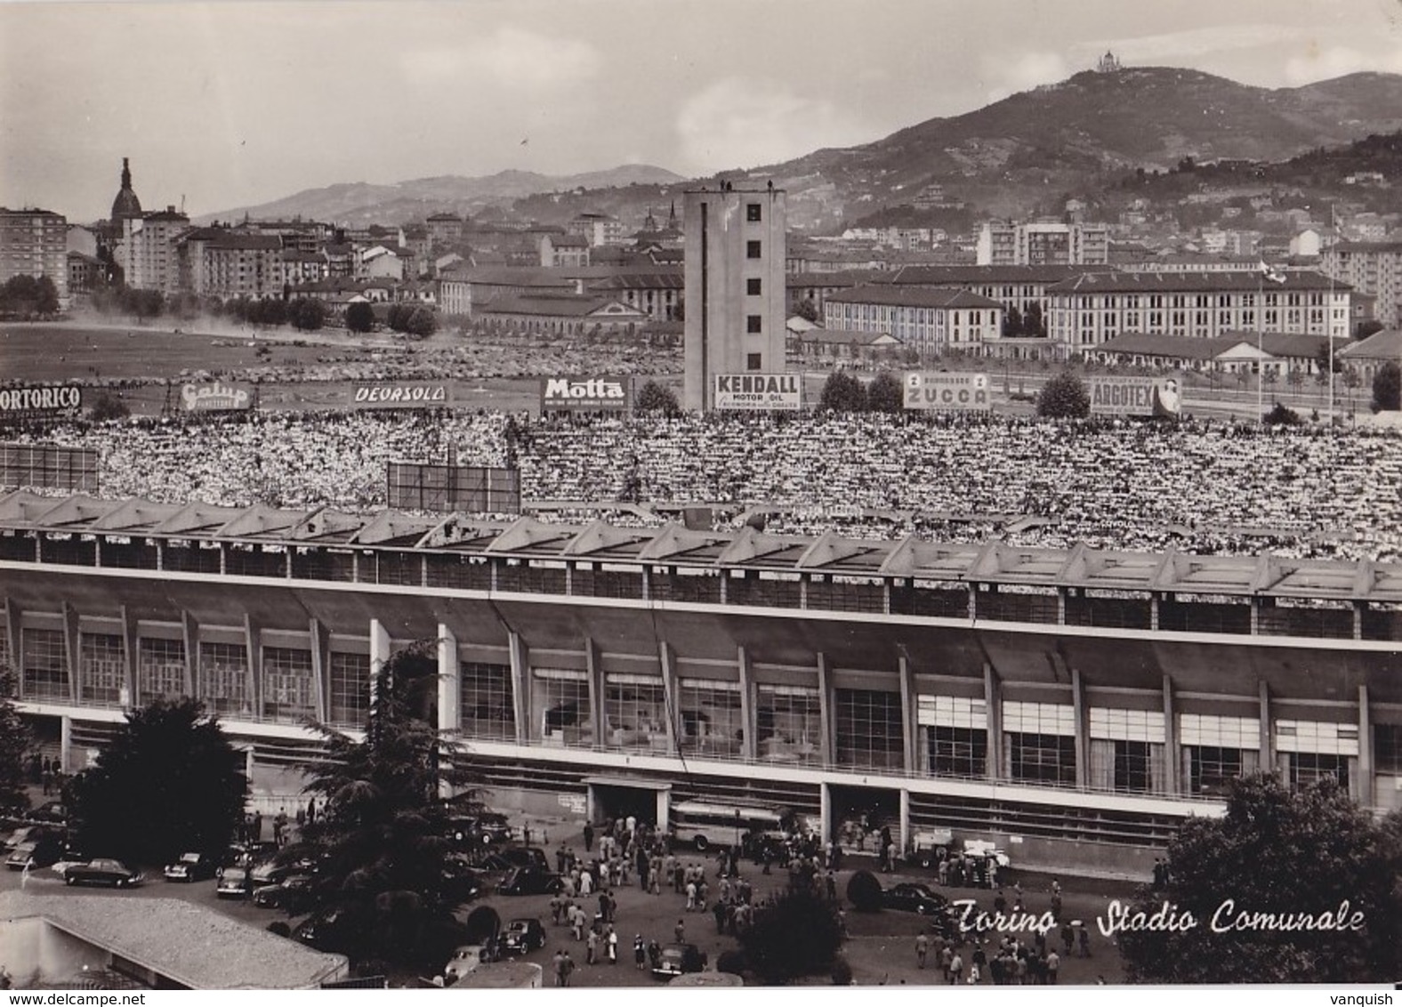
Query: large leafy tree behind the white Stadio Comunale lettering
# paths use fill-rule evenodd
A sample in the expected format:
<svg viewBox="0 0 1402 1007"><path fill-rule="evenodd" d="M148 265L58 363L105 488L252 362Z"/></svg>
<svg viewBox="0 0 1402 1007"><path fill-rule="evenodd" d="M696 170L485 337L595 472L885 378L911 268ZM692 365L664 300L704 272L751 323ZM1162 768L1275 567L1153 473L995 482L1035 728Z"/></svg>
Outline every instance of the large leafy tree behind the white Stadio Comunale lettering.
<svg viewBox="0 0 1402 1007"><path fill-rule="evenodd" d="M1179 827L1166 884L1124 907L1129 926L1116 940L1134 982L1391 980L1402 975L1399 871L1402 815L1374 822L1332 778L1291 791L1276 774L1256 774L1232 787L1224 818ZM1176 927L1144 926L1165 906ZM1140 926L1133 913L1145 913ZM1329 914L1342 924L1244 928L1234 926L1242 913ZM1113 924L1113 905L1102 919Z"/></svg>

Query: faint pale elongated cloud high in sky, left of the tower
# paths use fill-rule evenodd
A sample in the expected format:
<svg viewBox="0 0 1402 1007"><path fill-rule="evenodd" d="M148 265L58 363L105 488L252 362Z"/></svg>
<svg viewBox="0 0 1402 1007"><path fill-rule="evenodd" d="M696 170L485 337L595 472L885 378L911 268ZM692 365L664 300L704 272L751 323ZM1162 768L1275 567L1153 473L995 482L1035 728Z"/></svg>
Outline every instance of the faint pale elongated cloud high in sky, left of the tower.
<svg viewBox="0 0 1402 1007"><path fill-rule="evenodd" d="M603 63L587 42L509 25L460 46L419 49L402 58L405 76L421 86L485 81L530 91L573 87L596 77Z"/></svg>

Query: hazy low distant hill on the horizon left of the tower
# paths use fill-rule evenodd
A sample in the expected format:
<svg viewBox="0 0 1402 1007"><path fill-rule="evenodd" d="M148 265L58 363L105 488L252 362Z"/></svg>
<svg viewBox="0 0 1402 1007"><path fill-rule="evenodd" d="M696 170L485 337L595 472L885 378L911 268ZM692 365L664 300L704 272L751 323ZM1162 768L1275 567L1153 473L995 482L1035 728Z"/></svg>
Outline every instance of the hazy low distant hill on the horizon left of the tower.
<svg viewBox="0 0 1402 1007"><path fill-rule="evenodd" d="M681 175L651 164L624 164L606 171L578 175L541 175L534 171L499 171L495 175L439 175L394 185L341 182L304 189L259 206L238 206L207 213L195 223L238 220L245 215L262 220L304 217L335 223L398 224L423 220L433 213L477 215L484 208L506 208L534 194L614 189L629 185L667 185Z"/></svg>

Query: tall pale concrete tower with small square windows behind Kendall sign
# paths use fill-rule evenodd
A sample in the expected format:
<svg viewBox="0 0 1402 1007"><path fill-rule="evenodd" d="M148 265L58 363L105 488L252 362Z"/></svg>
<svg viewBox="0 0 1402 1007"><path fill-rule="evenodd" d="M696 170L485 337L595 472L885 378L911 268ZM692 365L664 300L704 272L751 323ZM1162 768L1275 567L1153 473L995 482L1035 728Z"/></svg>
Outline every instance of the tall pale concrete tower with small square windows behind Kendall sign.
<svg viewBox="0 0 1402 1007"><path fill-rule="evenodd" d="M687 410L709 410L718 374L781 374L784 191L683 194Z"/></svg>

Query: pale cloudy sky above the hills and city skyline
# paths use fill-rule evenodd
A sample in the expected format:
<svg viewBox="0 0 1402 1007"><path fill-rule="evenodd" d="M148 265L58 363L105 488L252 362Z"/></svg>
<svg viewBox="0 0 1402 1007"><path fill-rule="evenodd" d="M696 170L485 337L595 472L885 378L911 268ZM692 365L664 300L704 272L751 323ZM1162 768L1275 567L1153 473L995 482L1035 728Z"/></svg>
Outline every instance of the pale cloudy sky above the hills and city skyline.
<svg viewBox="0 0 1402 1007"><path fill-rule="evenodd" d="M687 177L887 136L1113 50L1402 73L1402 0L0 0L0 205L191 216L336 182ZM1150 123L1145 123L1151 128Z"/></svg>

